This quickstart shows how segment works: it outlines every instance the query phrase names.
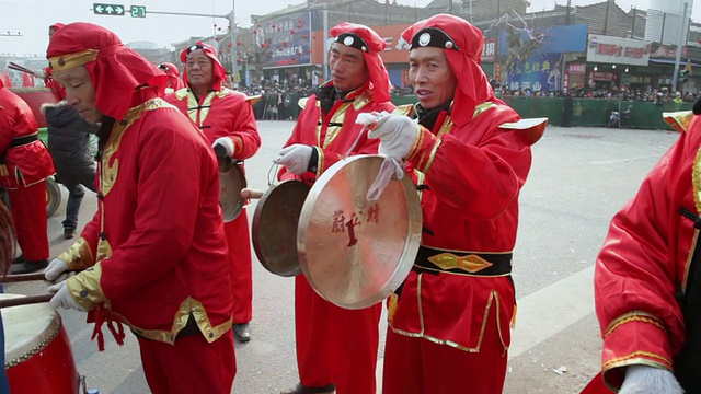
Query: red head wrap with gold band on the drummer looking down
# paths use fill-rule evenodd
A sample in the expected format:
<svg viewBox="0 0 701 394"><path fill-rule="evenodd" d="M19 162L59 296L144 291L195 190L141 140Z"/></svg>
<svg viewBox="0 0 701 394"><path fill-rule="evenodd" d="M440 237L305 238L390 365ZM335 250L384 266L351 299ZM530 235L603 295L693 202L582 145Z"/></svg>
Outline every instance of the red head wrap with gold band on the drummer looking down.
<svg viewBox="0 0 701 394"><path fill-rule="evenodd" d="M127 48L111 31L77 22L61 27L49 40L47 58L53 72L84 66L95 89L95 107L117 120L139 104L137 88L152 86L163 94L168 76Z"/></svg>

